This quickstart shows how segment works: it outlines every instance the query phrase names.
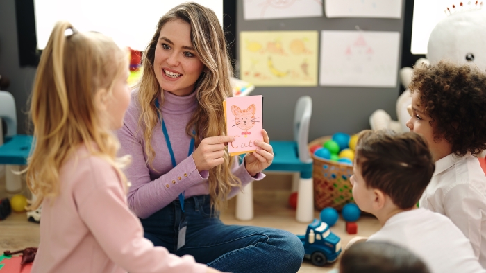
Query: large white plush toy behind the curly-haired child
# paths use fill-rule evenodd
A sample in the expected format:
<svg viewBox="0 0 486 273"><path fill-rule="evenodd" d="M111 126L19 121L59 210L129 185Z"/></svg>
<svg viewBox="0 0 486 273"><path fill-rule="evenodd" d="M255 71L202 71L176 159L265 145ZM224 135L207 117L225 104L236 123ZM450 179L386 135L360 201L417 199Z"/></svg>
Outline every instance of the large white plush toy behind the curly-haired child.
<svg viewBox="0 0 486 273"><path fill-rule="evenodd" d="M435 64L439 60L450 60L458 64L474 64L480 69L486 69L486 8L483 3L472 3L447 8L448 16L435 26L430 33L427 45L427 58L421 58L415 64ZM412 80L410 67L400 71L403 86L408 87ZM371 129L391 129L396 132L408 132L405 125L410 119L408 107L412 103L410 90L407 89L396 101L396 117L392 118L383 109L376 110L369 117Z"/></svg>

